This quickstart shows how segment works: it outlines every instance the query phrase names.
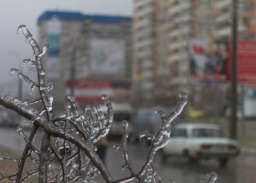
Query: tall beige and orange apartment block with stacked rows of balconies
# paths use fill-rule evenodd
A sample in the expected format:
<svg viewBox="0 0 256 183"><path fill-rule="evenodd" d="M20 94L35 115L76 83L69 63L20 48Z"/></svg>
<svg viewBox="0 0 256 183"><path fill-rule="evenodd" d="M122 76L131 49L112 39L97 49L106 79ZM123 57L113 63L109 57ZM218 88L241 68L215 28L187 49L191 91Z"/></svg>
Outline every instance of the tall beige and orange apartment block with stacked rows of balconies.
<svg viewBox="0 0 256 183"><path fill-rule="evenodd" d="M254 40L255 1L238 7L238 38ZM232 39L232 0L134 0L133 36L134 93L144 104L168 104L190 92L190 39Z"/></svg>

